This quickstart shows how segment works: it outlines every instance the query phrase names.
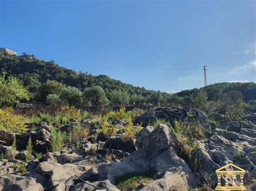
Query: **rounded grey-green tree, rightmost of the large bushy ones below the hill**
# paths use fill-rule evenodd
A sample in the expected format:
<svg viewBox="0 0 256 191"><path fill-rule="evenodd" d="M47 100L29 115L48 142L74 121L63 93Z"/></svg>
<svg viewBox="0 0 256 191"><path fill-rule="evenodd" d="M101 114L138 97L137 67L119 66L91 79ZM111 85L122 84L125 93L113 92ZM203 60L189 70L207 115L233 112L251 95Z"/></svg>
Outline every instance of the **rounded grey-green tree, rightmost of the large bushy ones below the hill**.
<svg viewBox="0 0 256 191"><path fill-rule="evenodd" d="M85 104L95 107L102 107L109 103L109 100L106 98L104 89L99 86L85 89L83 92L83 101Z"/></svg>

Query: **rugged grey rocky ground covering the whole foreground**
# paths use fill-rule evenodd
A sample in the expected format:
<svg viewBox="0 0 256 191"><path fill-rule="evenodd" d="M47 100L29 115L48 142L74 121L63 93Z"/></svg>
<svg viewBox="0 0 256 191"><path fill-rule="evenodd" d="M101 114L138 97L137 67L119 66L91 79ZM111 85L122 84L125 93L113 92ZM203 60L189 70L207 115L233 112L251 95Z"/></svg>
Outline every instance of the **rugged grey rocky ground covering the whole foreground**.
<svg viewBox="0 0 256 191"><path fill-rule="evenodd" d="M167 123L150 126L160 119ZM199 125L204 137L197 138L198 129L193 134L197 137L185 142L187 134L185 130L179 133L177 122ZM68 135L76 123L71 118L60 130ZM11 155L0 161L0 190L119 190L116 182L127 174L146 174L153 179L140 183L137 190L214 188L218 181L215 170L229 163L245 169L246 187L256 190L256 111L234 122L217 113L208 117L194 108L153 108L133 119L142 128L129 141L120 130L110 137L99 132L96 126L102 121L97 117L80 123L90 128L90 136L80 139L79 146L66 146L60 152L49 152L49 123L31 124L33 129L21 134L0 130L0 153ZM122 129L128 122L109 123ZM30 137L33 152L43 153L43 157L25 162ZM190 143L189 149L184 143Z"/></svg>

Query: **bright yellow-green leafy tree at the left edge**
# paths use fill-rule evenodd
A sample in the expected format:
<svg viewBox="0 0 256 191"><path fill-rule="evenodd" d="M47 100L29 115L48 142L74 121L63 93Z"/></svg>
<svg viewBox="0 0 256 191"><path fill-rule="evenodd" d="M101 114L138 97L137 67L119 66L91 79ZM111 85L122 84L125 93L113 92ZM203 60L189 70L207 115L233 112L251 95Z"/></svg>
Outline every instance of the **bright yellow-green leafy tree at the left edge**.
<svg viewBox="0 0 256 191"><path fill-rule="evenodd" d="M22 82L14 76L5 79L5 75L0 75L0 106L8 106L18 103L21 100L29 100L29 91Z"/></svg>

